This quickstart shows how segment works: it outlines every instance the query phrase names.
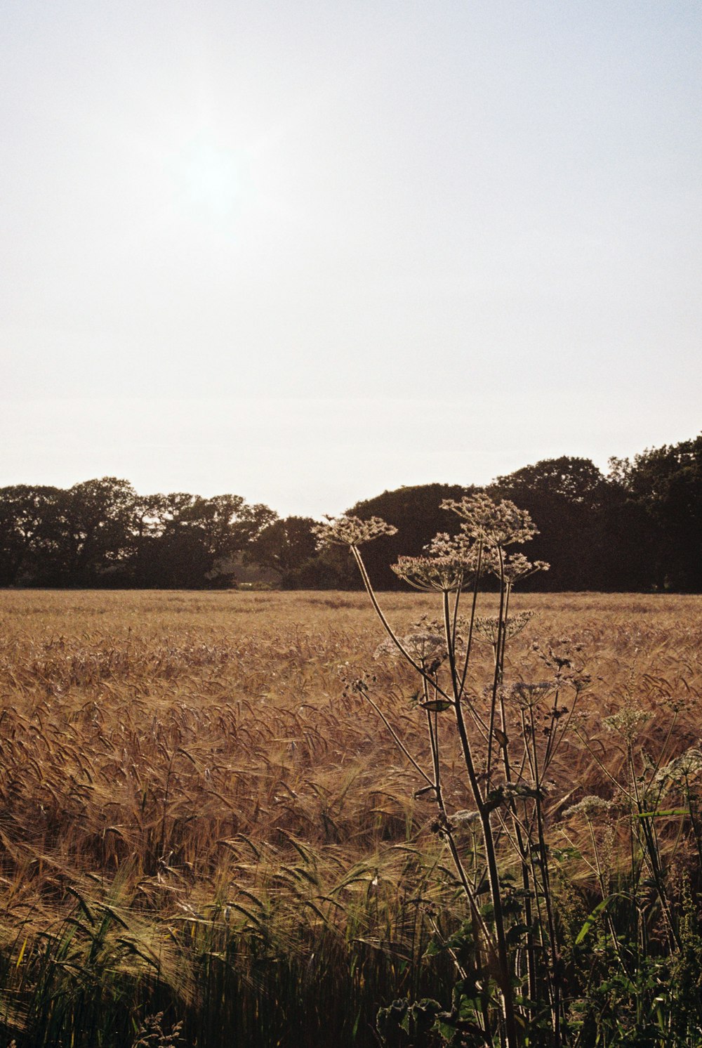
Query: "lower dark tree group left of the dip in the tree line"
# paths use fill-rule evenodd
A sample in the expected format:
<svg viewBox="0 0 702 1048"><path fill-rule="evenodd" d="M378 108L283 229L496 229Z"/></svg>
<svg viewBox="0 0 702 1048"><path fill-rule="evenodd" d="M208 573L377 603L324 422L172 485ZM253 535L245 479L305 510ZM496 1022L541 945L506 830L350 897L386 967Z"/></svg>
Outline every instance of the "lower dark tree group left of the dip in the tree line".
<svg viewBox="0 0 702 1048"><path fill-rule="evenodd" d="M5 586L232 585L232 562L276 515L241 496L137 496L103 477L63 490L0 489Z"/></svg>

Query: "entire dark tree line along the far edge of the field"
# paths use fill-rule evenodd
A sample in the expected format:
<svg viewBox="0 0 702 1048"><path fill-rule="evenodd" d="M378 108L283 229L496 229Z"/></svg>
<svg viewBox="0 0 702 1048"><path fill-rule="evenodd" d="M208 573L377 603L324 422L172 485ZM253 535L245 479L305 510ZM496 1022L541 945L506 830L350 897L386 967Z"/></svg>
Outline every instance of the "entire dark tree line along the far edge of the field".
<svg viewBox="0 0 702 1048"><path fill-rule="evenodd" d="M359 502L349 512L397 527L368 548L374 584L397 589L390 564L452 533L441 501L477 490L511 499L536 522L529 556L551 569L533 576L534 589L702 592L702 434L611 459L608 474L564 456L484 488L423 484ZM284 588L357 588L344 551L316 552L313 524L238 495L139 496L114 477L13 485L0 488L0 585L212 588L253 571Z"/></svg>

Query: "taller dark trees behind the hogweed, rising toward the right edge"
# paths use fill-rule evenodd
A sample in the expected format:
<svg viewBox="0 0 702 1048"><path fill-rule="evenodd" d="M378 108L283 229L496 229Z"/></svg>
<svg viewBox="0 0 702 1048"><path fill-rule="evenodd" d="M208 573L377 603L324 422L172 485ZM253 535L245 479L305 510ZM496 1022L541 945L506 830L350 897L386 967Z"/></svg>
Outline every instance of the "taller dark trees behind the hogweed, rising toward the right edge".
<svg viewBox="0 0 702 1048"><path fill-rule="evenodd" d="M400 587L390 565L401 553L420 553L437 531L455 531L455 515L439 508L442 499L476 490L425 484L352 506L354 516L380 517L397 528L365 550L374 585ZM485 490L527 509L539 526L527 552L551 568L526 588L702 592L702 435L631 460L612 459L607 475L590 459L546 459L498 477ZM287 581L301 587L358 585L341 550L319 554Z"/></svg>

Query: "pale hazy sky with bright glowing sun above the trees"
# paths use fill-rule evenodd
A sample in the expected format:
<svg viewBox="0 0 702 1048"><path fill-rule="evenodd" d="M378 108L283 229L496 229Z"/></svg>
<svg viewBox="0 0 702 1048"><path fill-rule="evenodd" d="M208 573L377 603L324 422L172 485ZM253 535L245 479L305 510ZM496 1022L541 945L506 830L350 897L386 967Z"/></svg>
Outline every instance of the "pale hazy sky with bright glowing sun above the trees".
<svg viewBox="0 0 702 1048"><path fill-rule="evenodd" d="M4 0L0 486L336 514L702 430L699 0Z"/></svg>

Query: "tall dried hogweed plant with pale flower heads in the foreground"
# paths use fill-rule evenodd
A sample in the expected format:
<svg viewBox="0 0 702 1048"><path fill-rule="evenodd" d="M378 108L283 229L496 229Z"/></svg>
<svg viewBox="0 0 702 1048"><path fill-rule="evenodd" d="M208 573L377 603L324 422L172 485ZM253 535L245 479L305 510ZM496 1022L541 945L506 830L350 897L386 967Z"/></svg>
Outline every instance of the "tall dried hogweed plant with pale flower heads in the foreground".
<svg viewBox="0 0 702 1048"><path fill-rule="evenodd" d="M436 1002L396 1002L382 1012L379 1028L390 1036L394 1019L414 1035L431 1028L452 1044L557 1048L564 1043L563 971L545 799L549 767L588 679L572 653L539 646L535 654L548 679L505 679L508 641L531 617L529 612L512 614L513 588L534 571L548 569L510 547L528 542L536 528L526 510L486 495L441 506L460 517L458 534L437 534L423 555L400 556L392 566L410 586L436 593L439 605L435 620L424 618L407 634L385 615L360 551L364 543L396 528L378 518L345 516L328 518L316 529L321 547L347 546L355 560L387 633L376 654L394 655L418 678L414 699L425 721L426 766L391 724L372 682L360 677L352 686L382 718L421 778L416 795L435 802L435 829L448 849L468 908L460 946L448 944L460 977L453 1007L442 1011ZM499 586L495 616L478 614L480 581L488 573ZM484 660L476 658L476 645L491 648L486 680L480 678ZM444 790L447 726L458 740L471 799L468 810L452 809Z"/></svg>

